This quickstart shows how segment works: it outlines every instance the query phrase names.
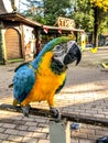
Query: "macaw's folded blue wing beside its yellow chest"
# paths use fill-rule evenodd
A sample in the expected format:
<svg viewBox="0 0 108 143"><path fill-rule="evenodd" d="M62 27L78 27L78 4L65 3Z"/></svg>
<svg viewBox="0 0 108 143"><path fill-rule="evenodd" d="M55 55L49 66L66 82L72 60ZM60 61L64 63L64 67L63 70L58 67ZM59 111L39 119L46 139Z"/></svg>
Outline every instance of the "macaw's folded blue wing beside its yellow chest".
<svg viewBox="0 0 108 143"><path fill-rule="evenodd" d="M17 69L13 77L13 96L21 103L35 82L35 73L28 66L21 66Z"/></svg>

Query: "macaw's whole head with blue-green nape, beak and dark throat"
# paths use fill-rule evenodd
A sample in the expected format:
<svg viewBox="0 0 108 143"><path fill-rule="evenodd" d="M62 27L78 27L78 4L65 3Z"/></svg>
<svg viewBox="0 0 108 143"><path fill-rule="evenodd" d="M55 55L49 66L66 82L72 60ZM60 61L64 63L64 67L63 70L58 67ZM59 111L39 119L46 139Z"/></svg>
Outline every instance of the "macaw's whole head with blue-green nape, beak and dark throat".
<svg viewBox="0 0 108 143"><path fill-rule="evenodd" d="M51 68L53 72L61 74L67 68L68 64L76 61L76 65L80 62L82 52L75 41L72 41L68 36L61 36L53 38L44 45L42 52L35 58L33 65L39 65L43 59L44 55L50 52L53 54L51 59Z"/></svg>

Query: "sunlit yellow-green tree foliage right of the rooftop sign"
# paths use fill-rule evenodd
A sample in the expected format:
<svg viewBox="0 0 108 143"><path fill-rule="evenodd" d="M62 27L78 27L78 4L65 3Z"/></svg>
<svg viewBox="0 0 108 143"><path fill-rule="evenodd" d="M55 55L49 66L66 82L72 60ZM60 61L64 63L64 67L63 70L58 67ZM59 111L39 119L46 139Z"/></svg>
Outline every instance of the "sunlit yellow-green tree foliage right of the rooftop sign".
<svg viewBox="0 0 108 143"><path fill-rule="evenodd" d="M89 0L76 0L72 16L78 29L93 31L94 16Z"/></svg>

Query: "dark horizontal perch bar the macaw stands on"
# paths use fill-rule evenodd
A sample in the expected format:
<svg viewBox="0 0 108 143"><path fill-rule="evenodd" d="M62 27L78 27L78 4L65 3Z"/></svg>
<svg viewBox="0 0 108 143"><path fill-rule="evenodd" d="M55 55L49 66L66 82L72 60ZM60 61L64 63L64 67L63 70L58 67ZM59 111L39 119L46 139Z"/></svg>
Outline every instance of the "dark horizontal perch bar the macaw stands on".
<svg viewBox="0 0 108 143"><path fill-rule="evenodd" d="M11 111L11 112L22 112L20 107L13 107L11 105L4 105L4 103L0 105L0 110ZM53 116L50 112L50 110L37 109L37 108L31 108L30 114L45 117L45 118L52 118ZM72 121L72 122L80 122L80 123L108 128L108 119L104 119L104 118L62 112L62 119L66 119L67 121Z"/></svg>

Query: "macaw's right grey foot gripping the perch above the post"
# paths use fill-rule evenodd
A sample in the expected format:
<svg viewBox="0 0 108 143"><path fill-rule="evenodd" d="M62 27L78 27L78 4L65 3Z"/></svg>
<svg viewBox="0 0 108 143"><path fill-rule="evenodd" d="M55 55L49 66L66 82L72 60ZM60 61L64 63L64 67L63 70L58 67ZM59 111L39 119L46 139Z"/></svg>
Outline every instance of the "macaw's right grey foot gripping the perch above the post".
<svg viewBox="0 0 108 143"><path fill-rule="evenodd" d="M50 107L50 110L51 110L52 117L54 117L55 120L58 122L61 120L60 110L57 108L54 108L54 107Z"/></svg>

